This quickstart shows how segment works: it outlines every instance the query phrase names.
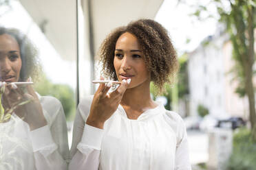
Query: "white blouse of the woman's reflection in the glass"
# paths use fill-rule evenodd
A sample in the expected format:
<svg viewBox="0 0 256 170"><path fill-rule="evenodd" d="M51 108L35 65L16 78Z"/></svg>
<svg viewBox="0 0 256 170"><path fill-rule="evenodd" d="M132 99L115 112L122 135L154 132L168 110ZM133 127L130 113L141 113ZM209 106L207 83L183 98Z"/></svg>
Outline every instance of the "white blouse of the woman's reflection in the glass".
<svg viewBox="0 0 256 170"><path fill-rule="evenodd" d="M10 121L0 123L0 169L63 170L70 158L67 125L61 102L54 97L39 101L47 125L30 131L16 114Z"/></svg>

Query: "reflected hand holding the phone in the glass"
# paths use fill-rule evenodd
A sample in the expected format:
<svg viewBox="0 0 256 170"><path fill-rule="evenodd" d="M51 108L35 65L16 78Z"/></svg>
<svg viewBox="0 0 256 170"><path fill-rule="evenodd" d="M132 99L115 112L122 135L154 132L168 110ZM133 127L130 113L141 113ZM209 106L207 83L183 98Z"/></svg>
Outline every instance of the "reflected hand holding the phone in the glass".
<svg viewBox="0 0 256 170"><path fill-rule="evenodd" d="M3 94L3 106L6 110L17 106L23 101L30 100L27 104L17 106L14 112L28 123L30 130L35 130L47 125L47 121L43 116L43 109L34 89L31 85L27 85L26 89L28 93L24 93L17 85L8 84Z"/></svg>

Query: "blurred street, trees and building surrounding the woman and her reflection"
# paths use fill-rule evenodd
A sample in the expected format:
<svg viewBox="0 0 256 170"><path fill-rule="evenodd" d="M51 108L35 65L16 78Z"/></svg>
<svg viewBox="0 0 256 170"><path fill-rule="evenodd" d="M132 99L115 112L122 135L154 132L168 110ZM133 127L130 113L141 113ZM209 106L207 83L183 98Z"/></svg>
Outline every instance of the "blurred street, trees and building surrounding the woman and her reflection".
<svg viewBox="0 0 256 170"><path fill-rule="evenodd" d="M34 88L76 105L100 77L97 50L115 27L155 19L177 49L175 84L153 99L186 123L193 169L256 169L255 0L0 0L0 25L27 34L43 71Z"/></svg>

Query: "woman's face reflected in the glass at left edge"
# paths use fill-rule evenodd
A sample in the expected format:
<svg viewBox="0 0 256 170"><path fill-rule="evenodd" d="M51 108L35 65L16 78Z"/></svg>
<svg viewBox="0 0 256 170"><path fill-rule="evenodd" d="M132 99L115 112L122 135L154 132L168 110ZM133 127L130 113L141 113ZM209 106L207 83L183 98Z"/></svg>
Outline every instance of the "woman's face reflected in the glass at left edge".
<svg viewBox="0 0 256 170"><path fill-rule="evenodd" d="M0 35L0 81L18 82L21 54L18 42L9 34Z"/></svg>

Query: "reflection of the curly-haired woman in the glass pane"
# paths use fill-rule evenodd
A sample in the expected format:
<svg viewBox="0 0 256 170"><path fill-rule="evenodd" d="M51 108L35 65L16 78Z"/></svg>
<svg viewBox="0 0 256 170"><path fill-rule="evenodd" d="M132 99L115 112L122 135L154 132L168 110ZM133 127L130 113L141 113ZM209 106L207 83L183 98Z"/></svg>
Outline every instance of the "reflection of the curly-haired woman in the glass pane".
<svg viewBox="0 0 256 170"><path fill-rule="evenodd" d="M14 108L0 123L0 169L67 169L67 126L60 101L41 97L31 85L39 73L36 50L17 29L0 27L0 81L6 86L1 98L4 110Z"/></svg>

